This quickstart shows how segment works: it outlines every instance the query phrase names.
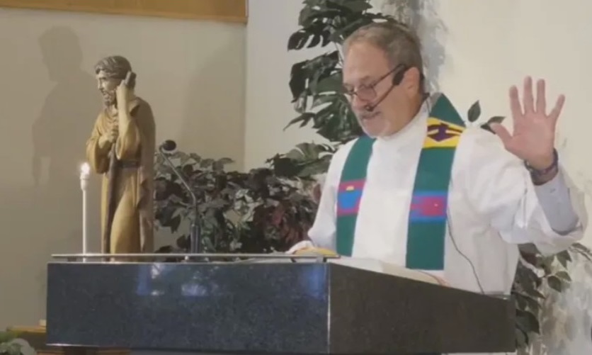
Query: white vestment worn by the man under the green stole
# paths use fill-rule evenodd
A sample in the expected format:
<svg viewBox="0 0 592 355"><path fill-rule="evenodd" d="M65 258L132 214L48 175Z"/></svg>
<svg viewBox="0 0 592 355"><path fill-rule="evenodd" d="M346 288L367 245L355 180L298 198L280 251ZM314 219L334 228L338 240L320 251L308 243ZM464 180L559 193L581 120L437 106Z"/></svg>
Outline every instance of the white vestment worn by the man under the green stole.
<svg viewBox="0 0 592 355"><path fill-rule="evenodd" d="M352 257L405 266L411 195L426 137L426 106L403 130L378 138L372 147ZM337 188L352 145L348 142L334 154L327 172L309 231L317 247L336 247ZM539 196L552 204L557 186L567 184L567 175L560 170L554 180L534 186L523 162L503 148L499 137L479 127L467 128L452 165L445 270L435 274L455 288L509 294L519 258L517 244L535 243L541 252L554 253L580 240L586 220L582 193L569 186L579 217L571 232L555 232L541 207Z"/></svg>

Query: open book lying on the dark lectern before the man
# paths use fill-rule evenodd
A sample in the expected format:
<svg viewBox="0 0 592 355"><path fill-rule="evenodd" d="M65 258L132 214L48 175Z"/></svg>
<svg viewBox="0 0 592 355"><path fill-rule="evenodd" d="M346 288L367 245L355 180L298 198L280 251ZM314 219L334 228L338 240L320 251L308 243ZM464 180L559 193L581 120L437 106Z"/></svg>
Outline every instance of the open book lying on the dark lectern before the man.
<svg viewBox="0 0 592 355"><path fill-rule="evenodd" d="M300 249L294 253L295 255L324 255L326 257L337 257L338 254L323 248L307 247ZM426 271L407 269L406 267L389 264L385 261L375 259L360 259L352 257L338 257L336 259L328 259L327 262L340 264L344 266L350 266L356 269L363 269L367 271L379 272L381 274L387 274L392 276L399 276L403 278L409 278L415 281L422 281L426 283L435 283L436 285L448 286L442 278L429 274Z"/></svg>

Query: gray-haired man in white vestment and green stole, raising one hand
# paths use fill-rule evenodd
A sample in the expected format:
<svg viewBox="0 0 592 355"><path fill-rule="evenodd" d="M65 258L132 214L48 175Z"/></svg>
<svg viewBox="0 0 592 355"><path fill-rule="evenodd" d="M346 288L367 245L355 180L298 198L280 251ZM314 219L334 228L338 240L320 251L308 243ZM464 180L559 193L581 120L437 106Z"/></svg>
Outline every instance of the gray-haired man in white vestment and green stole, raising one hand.
<svg viewBox="0 0 592 355"><path fill-rule="evenodd" d="M292 252L314 244L508 294L518 244L553 253L581 239L582 196L554 150L564 97L547 113L545 81L534 98L526 78L522 104L512 87L513 133L491 125L492 134L465 128L443 94L426 96L419 40L406 27L370 24L343 51L343 85L367 136L334 155L311 242Z"/></svg>

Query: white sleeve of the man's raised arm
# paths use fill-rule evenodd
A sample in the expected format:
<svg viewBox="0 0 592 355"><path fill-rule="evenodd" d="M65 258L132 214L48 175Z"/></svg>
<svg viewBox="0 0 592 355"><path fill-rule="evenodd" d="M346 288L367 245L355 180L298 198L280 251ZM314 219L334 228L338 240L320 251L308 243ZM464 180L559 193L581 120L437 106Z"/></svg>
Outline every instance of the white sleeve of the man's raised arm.
<svg viewBox="0 0 592 355"><path fill-rule="evenodd" d="M523 162L504 149L499 137L481 128L469 128L465 134L457 150L465 193L472 207L491 222L503 240L512 244L534 243L540 252L552 254L584 237L584 193L568 184L569 176L562 167L557 179L546 186L535 186ZM557 198L562 188L567 196ZM545 203L545 209L541 203ZM568 210L569 217L569 209L576 218L567 218L566 223L557 216L559 222L553 223L571 223L569 230L554 230L545 210Z"/></svg>

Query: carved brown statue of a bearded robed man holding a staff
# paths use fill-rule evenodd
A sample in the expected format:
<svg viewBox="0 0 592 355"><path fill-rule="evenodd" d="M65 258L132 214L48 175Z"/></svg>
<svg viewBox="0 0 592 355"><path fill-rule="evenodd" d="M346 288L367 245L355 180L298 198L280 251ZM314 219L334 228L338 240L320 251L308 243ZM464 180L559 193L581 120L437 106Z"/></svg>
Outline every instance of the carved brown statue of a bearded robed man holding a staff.
<svg viewBox="0 0 592 355"><path fill-rule="evenodd" d="M103 111L98 114L86 157L103 174L103 253L152 252L154 244L154 146L152 109L135 96L135 74L125 57L95 65Z"/></svg>

